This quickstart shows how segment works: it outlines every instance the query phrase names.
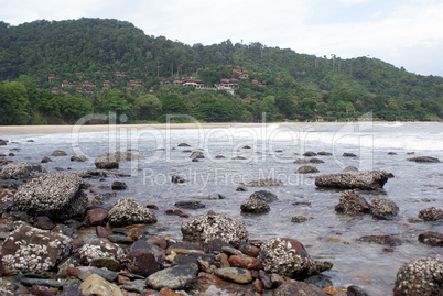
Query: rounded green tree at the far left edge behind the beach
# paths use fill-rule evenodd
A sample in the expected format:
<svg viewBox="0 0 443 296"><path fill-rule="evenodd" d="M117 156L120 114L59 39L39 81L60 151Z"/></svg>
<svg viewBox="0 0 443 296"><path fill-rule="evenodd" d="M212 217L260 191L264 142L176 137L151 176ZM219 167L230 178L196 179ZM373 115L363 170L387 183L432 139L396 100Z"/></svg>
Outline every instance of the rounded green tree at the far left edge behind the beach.
<svg viewBox="0 0 443 296"><path fill-rule="evenodd" d="M0 124L28 124L32 119L32 109L24 85L0 83Z"/></svg>

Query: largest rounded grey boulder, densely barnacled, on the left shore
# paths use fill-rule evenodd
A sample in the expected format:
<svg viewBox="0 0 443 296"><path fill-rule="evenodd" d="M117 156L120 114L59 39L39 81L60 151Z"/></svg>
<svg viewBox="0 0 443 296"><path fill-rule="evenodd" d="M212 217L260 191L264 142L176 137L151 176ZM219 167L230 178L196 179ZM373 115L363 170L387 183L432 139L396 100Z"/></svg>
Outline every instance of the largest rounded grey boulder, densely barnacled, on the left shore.
<svg viewBox="0 0 443 296"><path fill-rule="evenodd" d="M34 178L19 187L13 210L47 216L55 221L83 217L88 205L82 190L83 179L74 173L55 172Z"/></svg>

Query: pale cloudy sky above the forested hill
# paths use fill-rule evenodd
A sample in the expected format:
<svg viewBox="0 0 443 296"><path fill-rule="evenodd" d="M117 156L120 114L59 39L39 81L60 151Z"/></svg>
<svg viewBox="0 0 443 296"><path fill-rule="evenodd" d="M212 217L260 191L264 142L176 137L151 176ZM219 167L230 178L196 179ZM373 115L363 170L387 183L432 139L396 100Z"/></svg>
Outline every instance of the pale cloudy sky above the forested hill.
<svg viewBox="0 0 443 296"><path fill-rule="evenodd" d="M0 0L0 21L117 19L193 45L260 42L443 76L443 0Z"/></svg>

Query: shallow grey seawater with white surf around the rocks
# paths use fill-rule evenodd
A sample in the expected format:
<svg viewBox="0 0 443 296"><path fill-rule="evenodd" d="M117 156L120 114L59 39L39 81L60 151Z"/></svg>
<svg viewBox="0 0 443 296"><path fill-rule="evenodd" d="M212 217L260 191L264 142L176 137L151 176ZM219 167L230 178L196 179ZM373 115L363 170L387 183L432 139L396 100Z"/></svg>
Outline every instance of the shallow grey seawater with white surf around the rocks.
<svg viewBox="0 0 443 296"><path fill-rule="evenodd" d="M197 127L196 127L197 128ZM10 140L0 146L0 153L13 152L15 162L28 160L40 162L50 156L54 162L44 164L51 172L55 167L75 171L94 168L94 158L115 151L133 150L145 157L143 161L120 163L120 173L131 177L111 175L105 182L111 184L119 178L128 185L118 191L117 198L126 196L140 204L158 205L159 222L150 227L151 233L171 234L181 239L180 226L192 217L206 213L209 209L244 221L251 240L272 237L289 237L301 241L307 252L318 261L329 261L333 270L324 274L334 286L354 284L370 295L391 294L396 273L402 263L422 256L443 257L441 248L431 248L418 241L421 232L443 232L443 223L410 223L418 212L428 207L443 207L443 163L418 164L406 161L413 156L433 156L443 160L443 124L357 124L227 128L227 129L123 129L115 127L109 132L60 133L46 135L1 136ZM28 142L33 140L34 142ZM191 147L179 147L186 142ZM244 149L249 145L251 149ZM15 150L19 149L19 150ZM191 162L187 150L201 149L205 158ZM11 151L12 150L12 151ZM53 157L54 150L64 150L68 156ZM318 174L339 173L346 166L359 169L386 169L395 175L382 191L361 191L370 202L381 196L393 200L400 212L391 221L375 220L369 215L336 215L339 190L318 189L315 175L296 174L301 164L293 161L303 157L305 151L326 151L332 156L317 156L323 164L310 164ZM343 157L344 152L358 157ZM395 152L396 155L388 155ZM414 152L414 155L407 153ZM73 163L74 154L86 155L86 163ZM300 155L295 155L300 154ZM223 155L225 158L216 158ZM246 160L233 160L244 156ZM171 176L177 174L187 182L172 184ZM277 178L279 187L249 187L237 193L237 186L259 178ZM99 183L88 180L94 187ZM252 216L240 212L240 204L255 190L267 189L279 200L270 204L271 211ZM225 199L207 199L220 194ZM94 195L90 194L90 198ZM190 219L166 216L164 210L174 208L179 200L201 200L204 209L184 210ZM310 204L293 205L296 201ZM293 216L310 216L314 219L292 223ZM389 246L356 242L363 235L391 234L402 245Z"/></svg>

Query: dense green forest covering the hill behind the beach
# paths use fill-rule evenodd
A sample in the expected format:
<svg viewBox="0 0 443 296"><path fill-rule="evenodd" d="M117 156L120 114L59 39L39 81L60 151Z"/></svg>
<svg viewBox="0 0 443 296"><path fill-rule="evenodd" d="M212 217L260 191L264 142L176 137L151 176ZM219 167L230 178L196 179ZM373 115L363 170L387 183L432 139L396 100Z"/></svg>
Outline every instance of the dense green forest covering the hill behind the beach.
<svg viewBox="0 0 443 296"><path fill-rule="evenodd" d="M176 77L205 86L237 79L237 86L231 95L174 85ZM370 111L390 121L443 119L442 77L260 43L190 46L117 20L0 21L0 124L75 123L93 112L120 122L162 122L177 113L259 121L263 112L268 121L335 121Z"/></svg>

